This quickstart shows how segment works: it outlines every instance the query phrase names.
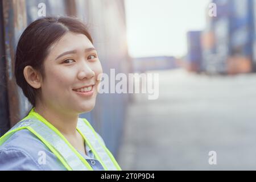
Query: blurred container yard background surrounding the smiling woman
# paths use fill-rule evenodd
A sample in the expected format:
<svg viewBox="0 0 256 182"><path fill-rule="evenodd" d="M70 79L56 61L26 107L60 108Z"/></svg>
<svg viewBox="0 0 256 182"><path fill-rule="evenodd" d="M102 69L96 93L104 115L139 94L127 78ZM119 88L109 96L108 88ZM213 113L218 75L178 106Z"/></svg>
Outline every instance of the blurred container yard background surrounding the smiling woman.
<svg viewBox="0 0 256 182"><path fill-rule="evenodd" d="M159 74L157 100L99 94L80 115L122 169L256 169L255 0L0 2L1 135L31 109L15 84L14 51L44 3L47 16L88 24L105 73Z"/></svg>

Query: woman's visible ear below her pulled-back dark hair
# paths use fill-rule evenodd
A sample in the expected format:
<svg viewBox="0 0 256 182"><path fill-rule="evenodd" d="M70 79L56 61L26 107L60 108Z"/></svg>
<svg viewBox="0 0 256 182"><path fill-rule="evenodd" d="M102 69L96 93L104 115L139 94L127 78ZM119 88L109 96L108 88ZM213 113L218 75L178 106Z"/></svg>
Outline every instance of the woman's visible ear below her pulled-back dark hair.
<svg viewBox="0 0 256 182"><path fill-rule="evenodd" d="M26 81L28 82L28 84L30 84L30 86L32 86L35 89L39 89L41 87L40 73L36 71L33 67L26 66L23 69L23 75Z"/></svg>

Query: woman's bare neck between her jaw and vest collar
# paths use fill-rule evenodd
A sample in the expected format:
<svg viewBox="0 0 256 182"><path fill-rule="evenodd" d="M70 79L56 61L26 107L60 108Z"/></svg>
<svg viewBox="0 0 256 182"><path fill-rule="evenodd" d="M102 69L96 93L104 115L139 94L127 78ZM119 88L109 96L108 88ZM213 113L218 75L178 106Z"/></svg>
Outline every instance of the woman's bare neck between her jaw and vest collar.
<svg viewBox="0 0 256 182"><path fill-rule="evenodd" d="M42 105L35 106L35 112L42 115L49 123L56 127L63 135L76 135L78 114L70 114L61 111L60 109L54 109L44 107Z"/></svg>

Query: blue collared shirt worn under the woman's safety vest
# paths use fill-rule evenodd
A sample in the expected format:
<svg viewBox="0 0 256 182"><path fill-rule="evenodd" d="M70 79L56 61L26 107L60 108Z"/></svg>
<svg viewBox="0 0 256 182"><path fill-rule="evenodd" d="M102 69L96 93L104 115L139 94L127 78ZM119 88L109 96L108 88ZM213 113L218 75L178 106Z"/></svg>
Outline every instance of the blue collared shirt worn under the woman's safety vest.
<svg viewBox="0 0 256 182"><path fill-rule="evenodd" d="M100 135L98 137L104 143ZM85 144L85 151L87 155L78 152L94 170L104 170L87 144ZM24 129L16 131L0 146L0 171L7 170L52 171L67 170L67 168L40 139Z"/></svg>

